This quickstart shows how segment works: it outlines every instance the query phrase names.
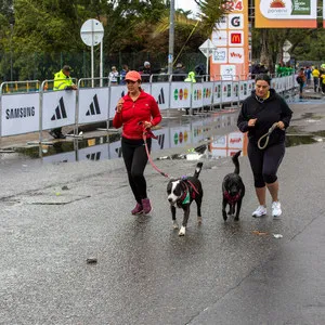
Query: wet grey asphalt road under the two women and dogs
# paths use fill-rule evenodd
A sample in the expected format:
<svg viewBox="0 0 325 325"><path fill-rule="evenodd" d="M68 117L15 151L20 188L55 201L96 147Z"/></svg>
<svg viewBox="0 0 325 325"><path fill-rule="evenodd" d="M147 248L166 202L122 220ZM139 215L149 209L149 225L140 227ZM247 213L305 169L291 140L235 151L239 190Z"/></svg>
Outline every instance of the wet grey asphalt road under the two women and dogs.
<svg viewBox="0 0 325 325"><path fill-rule="evenodd" d="M291 107L292 132L325 130L324 103ZM287 148L280 220L250 217L257 200L240 157L240 220L224 223L221 182L233 165L202 160L204 223L193 206L179 237L167 180L151 166L154 211L134 218L120 159L49 165L2 155L0 324L324 324L324 142ZM156 164L183 176L196 161Z"/></svg>

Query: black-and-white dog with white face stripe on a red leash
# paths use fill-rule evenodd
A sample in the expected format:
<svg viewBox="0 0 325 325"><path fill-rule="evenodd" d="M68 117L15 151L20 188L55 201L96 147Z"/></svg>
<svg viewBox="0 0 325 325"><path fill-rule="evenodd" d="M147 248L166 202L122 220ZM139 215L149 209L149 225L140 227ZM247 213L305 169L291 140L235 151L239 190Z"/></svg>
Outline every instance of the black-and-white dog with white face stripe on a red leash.
<svg viewBox="0 0 325 325"><path fill-rule="evenodd" d="M178 208L184 210L183 223L179 232L179 236L184 236L186 225L190 217L190 206L193 200L196 202L197 206L197 222L202 223L200 206L203 199L202 183L198 180L198 176L202 170L203 162L196 165L196 169L193 177L185 177L178 180L169 181L167 185L168 200L170 203L171 217L173 221L173 227L179 229L176 219L176 205Z"/></svg>

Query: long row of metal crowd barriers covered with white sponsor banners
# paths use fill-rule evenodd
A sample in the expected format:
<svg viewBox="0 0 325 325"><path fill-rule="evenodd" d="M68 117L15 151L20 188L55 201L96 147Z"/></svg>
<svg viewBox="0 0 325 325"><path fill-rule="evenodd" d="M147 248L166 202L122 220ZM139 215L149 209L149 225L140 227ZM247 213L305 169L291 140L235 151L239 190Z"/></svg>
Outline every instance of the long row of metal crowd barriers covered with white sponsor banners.
<svg viewBox="0 0 325 325"><path fill-rule="evenodd" d="M165 118L173 109L185 108L192 114L203 108L213 110L226 105L233 107L234 103L238 106L250 94L255 83L253 79L242 80L239 76L199 76L200 82L195 83L172 81L173 76L176 75L166 78L153 75L150 82L141 86L156 99ZM206 81L207 79L210 81ZM271 82L277 92L297 87L294 76L273 78ZM80 125L105 121L107 128L104 130L109 130L109 120L115 115L118 100L127 93L127 87L110 84L108 78L81 78L76 83L78 90L53 91L49 87L53 84L53 80L41 83L39 80L2 82L0 140L2 136L39 132L39 141L42 142L42 131L66 126L73 126L73 135L78 136ZM25 91L6 91L16 88L15 84L25 84ZM35 86L32 91L30 84Z"/></svg>

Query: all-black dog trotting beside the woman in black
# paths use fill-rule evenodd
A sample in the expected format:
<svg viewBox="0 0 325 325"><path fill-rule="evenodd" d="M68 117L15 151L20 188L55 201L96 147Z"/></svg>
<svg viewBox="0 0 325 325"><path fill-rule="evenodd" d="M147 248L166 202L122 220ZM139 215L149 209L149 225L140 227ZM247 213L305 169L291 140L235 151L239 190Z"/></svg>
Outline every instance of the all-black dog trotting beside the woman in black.
<svg viewBox="0 0 325 325"><path fill-rule="evenodd" d="M225 212L226 205L229 205L229 214L232 216L235 214L235 208L237 206L235 221L239 220L242 200L245 195L245 185L243 183L242 178L239 177L238 156L240 155L240 153L242 151L237 152L232 157L233 162L235 165L235 171L226 174L222 182L222 194L223 194L222 214L224 221L226 220L226 212Z"/></svg>

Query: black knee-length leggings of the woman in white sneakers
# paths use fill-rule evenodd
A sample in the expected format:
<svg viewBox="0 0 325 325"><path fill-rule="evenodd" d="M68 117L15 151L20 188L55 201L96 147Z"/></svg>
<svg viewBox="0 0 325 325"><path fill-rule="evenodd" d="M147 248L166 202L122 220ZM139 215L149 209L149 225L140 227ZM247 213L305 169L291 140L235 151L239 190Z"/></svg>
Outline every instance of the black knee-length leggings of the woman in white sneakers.
<svg viewBox="0 0 325 325"><path fill-rule="evenodd" d="M273 144L259 150L256 144L248 143L248 158L253 173L255 187L264 187L277 180L276 172L285 154L285 144Z"/></svg>

